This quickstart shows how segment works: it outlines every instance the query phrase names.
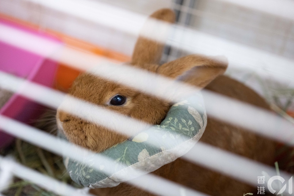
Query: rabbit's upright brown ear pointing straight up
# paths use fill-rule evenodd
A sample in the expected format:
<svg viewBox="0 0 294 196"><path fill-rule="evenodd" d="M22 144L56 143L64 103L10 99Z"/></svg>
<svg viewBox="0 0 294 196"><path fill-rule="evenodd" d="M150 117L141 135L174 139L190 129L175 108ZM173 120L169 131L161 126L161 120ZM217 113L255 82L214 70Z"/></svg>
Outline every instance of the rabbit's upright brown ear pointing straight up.
<svg viewBox="0 0 294 196"><path fill-rule="evenodd" d="M173 23L175 21L175 14L173 11L170 9L160 9L156 12L154 12L150 17L149 21L147 21L143 25L143 29L141 30L142 34L148 32L152 33L155 32L162 34L166 34L168 31L166 28L162 28L161 30L163 32L158 32L160 29L157 28L152 28L150 23L150 19L156 19L158 21L164 21L164 22L169 22ZM151 20L152 22L154 20ZM148 25L149 24L149 25ZM154 24L154 23L153 23ZM156 23L155 23L156 26ZM142 64L157 64L159 63L163 51L164 43L163 42L158 42L155 40L150 40L147 38L144 38L143 36L140 36L136 42L133 56L132 56L132 61L131 64L133 65L142 65Z"/></svg>

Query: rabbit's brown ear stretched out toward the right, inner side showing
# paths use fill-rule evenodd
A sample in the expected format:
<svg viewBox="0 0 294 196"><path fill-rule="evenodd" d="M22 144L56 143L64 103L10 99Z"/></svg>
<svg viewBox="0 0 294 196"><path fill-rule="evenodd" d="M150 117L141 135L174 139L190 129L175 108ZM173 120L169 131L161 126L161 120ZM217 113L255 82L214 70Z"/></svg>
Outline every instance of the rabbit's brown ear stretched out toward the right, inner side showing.
<svg viewBox="0 0 294 196"><path fill-rule="evenodd" d="M163 64L157 73L203 88L223 74L228 66L223 56L189 55Z"/></svg>

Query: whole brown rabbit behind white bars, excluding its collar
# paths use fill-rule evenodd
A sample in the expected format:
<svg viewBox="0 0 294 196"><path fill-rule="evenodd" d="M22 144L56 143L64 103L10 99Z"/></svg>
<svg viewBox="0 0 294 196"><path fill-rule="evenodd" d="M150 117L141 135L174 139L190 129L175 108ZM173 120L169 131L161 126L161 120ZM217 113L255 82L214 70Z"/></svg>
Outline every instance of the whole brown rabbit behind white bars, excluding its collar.
<svg viewBox="0 0 294 196"><path fill-rule="evenodd" d="M169 9L156 11L151 17L170 23L175 18ZM233 79L220 76L227 67L226 63L201 55L190 55L159 66L162 50L162 43L139 37L130 64L270 110L263 98L254 91ZM151 124L161 123L171 107L171 103L166 100L90 73L78 76L69 94ZM95 152L101 152L128 139L126 135L108 130L102 125L86 122L61 110L57 111L56 118L71 142ZM275 143L209 116L201 141L262 163L273 163ZM181 158L162 166L153 174L209 195L235 196L256 190L256 187L250 187ZM152 195L127 183L111 188L94 189L92 192L97 195Z"/></svg>

